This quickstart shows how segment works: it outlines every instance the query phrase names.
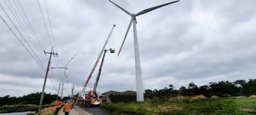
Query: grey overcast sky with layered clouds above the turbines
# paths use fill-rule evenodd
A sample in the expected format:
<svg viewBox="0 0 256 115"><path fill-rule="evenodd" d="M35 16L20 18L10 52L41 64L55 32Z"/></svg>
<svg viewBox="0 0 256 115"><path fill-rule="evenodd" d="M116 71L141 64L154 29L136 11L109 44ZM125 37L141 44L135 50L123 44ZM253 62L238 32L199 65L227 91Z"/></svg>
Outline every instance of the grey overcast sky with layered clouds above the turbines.
<svg viewBox="0 0 256 115"><path fill-rule="evenodd" d="M107 52L97 91L136 90L132 27L120 56L117 56L131 19L124 11L107 0L46 0L48 19L44 0L38 0L40 6L35 0L20 1L35 31L33 33L28 29L26 33L20 27L21 22L20 25L17 22L19 11L22 13L22 10L17 10L17 6L20 8L19 1L13 1L10 1L12 6L8 0L1 0L0 3L27 43L2 8L0 15L31 54L35 52L36 56L33 56L40 59L43 68L47 67L49 59L49 54L45 56L44 50L51 52L51 46L59 54L58 57L52 56L51 67L63 67L77 54L67 66L68 79L65 79L64 96L71 94L72 84L75 85L74 93L81 91L113 24L116 27L106 49L116 49L116 53ZM113 2L131 13L138 13L172 1ZM143 88L163 89L173 84L179 89L188 86L190 82L202 86L209 82L255 79L255 4L254 0L182 0L136 17ZM8 6L11 10L12 7L15 9L17 20L13 17L15 11L10 11ZM23 22L26 20L19 17ZM3 20L0 21L0 96L41 92L45 69L36 63ZM28 28L25 22L24 27ZM93 89L98 70L99 65L87 90ZM63 69L50 70L46 93L58 92L63 73Z"/></svg>

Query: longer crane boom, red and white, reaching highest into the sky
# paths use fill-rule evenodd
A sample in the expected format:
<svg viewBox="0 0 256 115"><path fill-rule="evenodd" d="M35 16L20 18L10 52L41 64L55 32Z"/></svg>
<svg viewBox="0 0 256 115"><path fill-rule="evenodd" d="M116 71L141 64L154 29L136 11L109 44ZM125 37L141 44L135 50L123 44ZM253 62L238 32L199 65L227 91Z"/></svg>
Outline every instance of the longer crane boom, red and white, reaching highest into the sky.
<svg viewBox="0 0 256 115"><path fill-rule="evenodd" d="M98 63L99 63L99 59L100 59L100 57L102 56L102 53L103 53L103 51L104 51L104 49L105 49L105 47L106 47L106 45L107 45L107 43L108 43L109 37L110 37L110 35L111 35L111 33L112 33L114 27L115 27L115 24L113 25L113 27L112 27L112 29L111 29L109 35L108 35L108 38L107 38L106 42L104 43L104 45L103 45L103 47L102 47L102 50L100 50L100 54L99 54L99 56L98 56L98 58L97 58L95 64L93 65L92 71L90 72L90 74L89 74L89 76L88 76L88 78L87 78L87 80L86 80L86 82L85 82L85 84L84 84L83 89L80 91L79 96L81 96L81 94L82 94L82 93L84 92L84 90L86 89L86 86L87 86L88 82L90 81L90 79L91 79L91 77L92 77L92 73L94 72L95 68L97 67L97 65L98 65Z"/></svg>

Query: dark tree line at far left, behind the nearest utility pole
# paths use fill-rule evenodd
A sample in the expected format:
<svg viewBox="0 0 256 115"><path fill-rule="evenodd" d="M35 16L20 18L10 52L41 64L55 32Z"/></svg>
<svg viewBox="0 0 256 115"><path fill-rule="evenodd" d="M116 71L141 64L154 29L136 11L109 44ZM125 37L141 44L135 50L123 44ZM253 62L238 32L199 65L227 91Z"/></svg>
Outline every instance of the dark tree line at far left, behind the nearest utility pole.
<svg viewBox="0 0 256 115"><path fill-rule="evenodd" d="M34 104L34 105L38 105L40 102L40 97L41 97L41 93L31 93L29 95L24 95L24 96L13 96L11 97L10 95L6 95L1 97L0 96L0 106L3 105L14 105L14 104ZM44 104L49 104L52 101L56 100L57 95L51 95L51 93L47 94L44 93L44 101L43 101L43 105Z"/></svg>

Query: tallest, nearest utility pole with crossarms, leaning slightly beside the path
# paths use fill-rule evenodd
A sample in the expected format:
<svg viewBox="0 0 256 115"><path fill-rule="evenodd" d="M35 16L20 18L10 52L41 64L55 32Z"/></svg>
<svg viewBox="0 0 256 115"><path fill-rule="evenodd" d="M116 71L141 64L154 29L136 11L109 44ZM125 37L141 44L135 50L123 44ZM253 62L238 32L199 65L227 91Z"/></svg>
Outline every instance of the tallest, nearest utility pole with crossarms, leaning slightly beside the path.
<svg viewBox="0 0 256 115"><path fill-rule="evenodd" d="M51 52L45 52L45 50L44 50L44 53L45 53L45 55L50 54L50 57L49 57L49 62L48 62L47 70L46 70L45 77L44 77L44 86L43 86L43 89L42 89L42 94L41 94L41 98L40 98L40 104L39 104L39 107L38 107L38 112L41 111L41 106L42 106L42 102L43 102L43 98L44 98L44 88L45 88L45 83L46 83L46 80L47 80L47 75L48 75L48 72L49 72L49 66L50 66L50 63L51 63L52 54L53 54L53 56L55 56L55 55L58 56L58 53L57 52L54 53L54 52L52 52L52 50L51 50Z"/></svg>

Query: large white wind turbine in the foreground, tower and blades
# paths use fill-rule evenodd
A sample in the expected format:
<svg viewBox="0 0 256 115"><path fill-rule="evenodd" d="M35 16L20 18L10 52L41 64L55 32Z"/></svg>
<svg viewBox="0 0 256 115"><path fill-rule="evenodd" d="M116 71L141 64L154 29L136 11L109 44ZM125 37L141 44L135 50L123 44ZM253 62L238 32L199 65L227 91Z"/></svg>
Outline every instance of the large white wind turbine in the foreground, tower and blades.
<svg viewBox="0 0 256 115"><path fill-rule="evenodd" d="M110 0L109 0L110 1ZM111 3L113 3L112 1L110 1ZM123 10L125 13L127 13L128 15L131 16L131 21L130 21L130 24L127 28L127 31L125 33L125 36L124 36L124 40L122 42L122 45L120 47L120 50L118 52L118 56L120 54L120 51L124 45L124 42L125 42L125 38L129 32L129 29L131 27L131 24L133 22L133 36L134 36L134 56L135 56L135 68L136 68L136 95L137 95L137 102L143 102L144 101L144 97L143 97L143 85L142 85L142 79L141 79L141 68L140 68L140 53L139 53L139 47L138 47L138 36L137 36L137 29L136 29L136 16L138 15L143 15L144 13L147 13L149 11L152 11L152 10L156 10L157 8L161 8L163 6L166 6L168 4L172 4L172 3L176 3L178 1L173 1L171 3L166 3L166 4L161 4L159 6L155 6L155 7L152 7L152 8L148 8L146 10L142 10L138 13L130 13L129 11L127 10L124 10L124 8L118 6L117 4L115 4L115 6L117 6L118 8L120 8L121 10Z"/></svg>

